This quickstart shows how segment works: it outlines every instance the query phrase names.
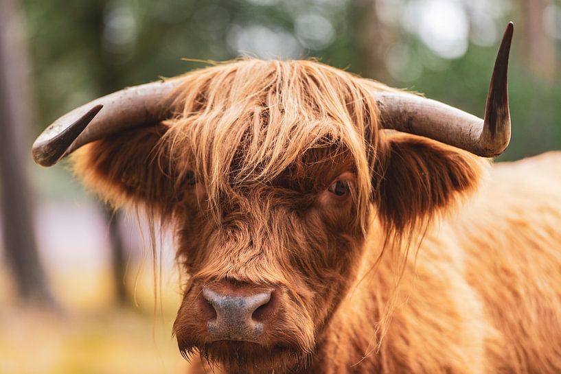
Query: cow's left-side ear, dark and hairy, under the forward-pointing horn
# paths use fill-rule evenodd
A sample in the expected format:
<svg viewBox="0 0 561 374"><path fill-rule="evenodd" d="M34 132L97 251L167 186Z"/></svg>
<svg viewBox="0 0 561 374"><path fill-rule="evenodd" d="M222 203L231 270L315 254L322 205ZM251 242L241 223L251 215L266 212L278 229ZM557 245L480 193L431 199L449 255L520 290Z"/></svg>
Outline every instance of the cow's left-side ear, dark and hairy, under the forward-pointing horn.
<svg viewBox="0 0 561 374"><path fill-rule="evenodd" d="M72 156L73 171L84 185L114 207L162 204L174 198L169 159L161 139L163 124L113 135L84 145Z"/></svg>

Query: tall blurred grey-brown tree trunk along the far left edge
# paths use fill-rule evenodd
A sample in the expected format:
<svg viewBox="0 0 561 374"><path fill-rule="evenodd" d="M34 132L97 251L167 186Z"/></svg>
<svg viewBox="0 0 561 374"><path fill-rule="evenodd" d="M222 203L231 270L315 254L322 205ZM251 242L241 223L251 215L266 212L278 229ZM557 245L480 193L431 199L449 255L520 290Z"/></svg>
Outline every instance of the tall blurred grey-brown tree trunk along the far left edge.
<svg viewBox="0 0 561 374"><path fill-rule="evenodd" d="M53 305L39 261L26 159L30 157L29 65L14 0L0 1L0 182L5 257L19 295Z"/></svg>

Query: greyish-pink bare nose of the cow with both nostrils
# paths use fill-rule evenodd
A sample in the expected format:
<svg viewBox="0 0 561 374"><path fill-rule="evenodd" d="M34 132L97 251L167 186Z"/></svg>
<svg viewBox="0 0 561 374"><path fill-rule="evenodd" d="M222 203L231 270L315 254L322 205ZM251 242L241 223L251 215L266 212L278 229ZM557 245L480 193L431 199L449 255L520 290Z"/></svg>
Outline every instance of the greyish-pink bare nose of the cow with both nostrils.
<svg viewBox="0 0 561 374"><path fill-rule="evenodd" d="M239 290L238 290L239 291ZM268 318L274 314L274 292L220 293L204 287L203 299L214 309L207 327L211 339L257 342Z"/></svg>

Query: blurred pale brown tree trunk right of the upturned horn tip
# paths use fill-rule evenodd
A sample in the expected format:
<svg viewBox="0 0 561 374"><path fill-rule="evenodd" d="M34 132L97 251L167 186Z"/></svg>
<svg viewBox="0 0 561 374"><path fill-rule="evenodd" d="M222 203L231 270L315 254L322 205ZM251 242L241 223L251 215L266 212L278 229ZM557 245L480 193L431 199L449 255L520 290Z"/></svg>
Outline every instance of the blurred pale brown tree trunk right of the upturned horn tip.
<svg viewBox="0 0 561 374"><path fill-rule="evenodd" d="M519 0L518 14L522 21L523 56L530 71L551 79L558 72L556 43L544 28L544 11L551 0Z"/></svg>

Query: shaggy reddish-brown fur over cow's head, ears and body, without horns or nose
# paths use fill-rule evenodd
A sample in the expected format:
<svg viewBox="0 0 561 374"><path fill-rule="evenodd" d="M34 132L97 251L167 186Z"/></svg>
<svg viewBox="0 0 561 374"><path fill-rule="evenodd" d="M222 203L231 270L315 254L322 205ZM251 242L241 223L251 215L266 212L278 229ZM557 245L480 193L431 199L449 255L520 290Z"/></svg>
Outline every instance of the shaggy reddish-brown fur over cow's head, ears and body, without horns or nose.
<svg viewBox="0 0 561 374"><path fill-rule="evenodd" d="M190 373L559 373L561 154L490 167L385 133L374 90L312 61L217 65L174 118L73 165L173 229ZM209 341L194 301L225 283L279 290L259 344Z"/></svg>

